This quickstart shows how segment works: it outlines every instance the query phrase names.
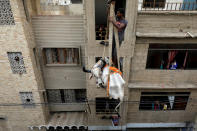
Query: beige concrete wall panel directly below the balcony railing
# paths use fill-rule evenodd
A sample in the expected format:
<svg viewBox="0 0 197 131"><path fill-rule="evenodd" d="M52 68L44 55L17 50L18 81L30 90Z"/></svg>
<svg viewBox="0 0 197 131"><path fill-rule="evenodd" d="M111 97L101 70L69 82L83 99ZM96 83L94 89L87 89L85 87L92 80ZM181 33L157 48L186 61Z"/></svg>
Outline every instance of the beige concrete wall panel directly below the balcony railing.
<svg viewBox="0 0 197 131"><path fill-rule="evenodd" d="M152 37L179 37L191 32L196 35L196 14L185 13L139 13L136 32L143 35L152 34Z"/></svg>

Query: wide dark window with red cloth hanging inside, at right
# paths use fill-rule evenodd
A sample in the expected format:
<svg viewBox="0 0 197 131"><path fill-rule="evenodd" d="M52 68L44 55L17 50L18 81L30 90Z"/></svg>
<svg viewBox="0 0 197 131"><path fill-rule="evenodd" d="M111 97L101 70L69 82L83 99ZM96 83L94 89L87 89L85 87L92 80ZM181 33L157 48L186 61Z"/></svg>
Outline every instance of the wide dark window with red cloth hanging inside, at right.
<svg viewBox="0 0 197 131"><path fill-rule="evenodd" d="M197 69L197 45L150 44L147 69Z"/></svg>

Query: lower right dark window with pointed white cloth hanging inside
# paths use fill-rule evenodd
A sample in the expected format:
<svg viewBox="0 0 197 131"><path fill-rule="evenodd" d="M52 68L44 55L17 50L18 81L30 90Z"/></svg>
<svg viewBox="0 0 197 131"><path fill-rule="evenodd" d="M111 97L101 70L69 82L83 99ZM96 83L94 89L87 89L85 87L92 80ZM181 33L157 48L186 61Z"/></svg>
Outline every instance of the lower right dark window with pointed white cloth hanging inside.
<svg viewBox="0 0 197 131"><path fill-rule="evenodd" d="M142 92L140 110L185 110L189 92Z"/></svg>

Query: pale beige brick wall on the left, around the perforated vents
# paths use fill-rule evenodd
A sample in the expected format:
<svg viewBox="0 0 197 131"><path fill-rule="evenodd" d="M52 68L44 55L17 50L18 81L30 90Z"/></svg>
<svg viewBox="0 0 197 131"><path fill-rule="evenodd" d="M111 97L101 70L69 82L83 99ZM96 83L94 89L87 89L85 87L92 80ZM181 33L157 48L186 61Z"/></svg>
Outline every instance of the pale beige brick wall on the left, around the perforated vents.
<svg viewBox="0 0 197 131"><path fill-rule="evenodd" d="M32 92L35 103L43 102L44 89L41 74L33 55L35 46L31 26L26 22L22 1L10 0L15 25L0 26L0 103L21 104L19 92ZM26 74L13 74L7 52L22 52ZM28 131L28 126L46 123L46 108L37 105L33 108L1 106L0 116L6 118L10 131Z"/></svg>

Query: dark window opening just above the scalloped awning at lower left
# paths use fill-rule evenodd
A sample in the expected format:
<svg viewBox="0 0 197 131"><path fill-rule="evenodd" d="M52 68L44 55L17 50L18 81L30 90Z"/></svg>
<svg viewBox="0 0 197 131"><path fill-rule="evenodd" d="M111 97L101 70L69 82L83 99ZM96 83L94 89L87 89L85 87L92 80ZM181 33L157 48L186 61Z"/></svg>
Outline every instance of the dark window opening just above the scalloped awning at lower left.
<svg viewBox="0 0 197 131"><path fill-rule="evenodd" d="M49 103L79 103L85 102L85 89L50 89L47 90Z"/></svg>

